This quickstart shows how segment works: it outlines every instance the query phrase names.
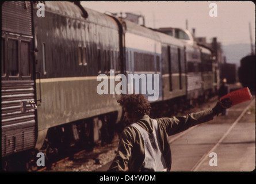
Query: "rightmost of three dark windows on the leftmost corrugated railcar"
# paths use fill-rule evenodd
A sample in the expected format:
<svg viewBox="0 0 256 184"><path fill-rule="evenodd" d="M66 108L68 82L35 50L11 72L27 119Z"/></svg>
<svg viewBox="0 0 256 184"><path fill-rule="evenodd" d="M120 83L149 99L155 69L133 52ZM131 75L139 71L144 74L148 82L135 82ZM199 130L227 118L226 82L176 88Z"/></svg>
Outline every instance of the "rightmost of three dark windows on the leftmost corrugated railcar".
<svg viewBox="0 0 256 184"><path fill-rule="evenodd" d="M29 66L29 42L21 41L21 75L29 76L30 75L30 66Z"/></svg>

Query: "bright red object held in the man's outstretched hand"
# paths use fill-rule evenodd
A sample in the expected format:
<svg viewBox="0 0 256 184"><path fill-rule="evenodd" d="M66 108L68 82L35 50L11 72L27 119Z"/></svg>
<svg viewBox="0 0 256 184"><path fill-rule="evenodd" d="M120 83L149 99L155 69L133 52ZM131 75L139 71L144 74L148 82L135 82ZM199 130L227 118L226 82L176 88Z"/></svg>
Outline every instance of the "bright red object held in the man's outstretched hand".
<svg viewBox="0 0 256 184"><path fill-rule="evenodd" d="M244 87L242 89L232 91L231 93L224 95L220 98L220 100L224 98L230 98L232 105L236 105L253 99L253 96L251 95L249 88Z"/></svg>

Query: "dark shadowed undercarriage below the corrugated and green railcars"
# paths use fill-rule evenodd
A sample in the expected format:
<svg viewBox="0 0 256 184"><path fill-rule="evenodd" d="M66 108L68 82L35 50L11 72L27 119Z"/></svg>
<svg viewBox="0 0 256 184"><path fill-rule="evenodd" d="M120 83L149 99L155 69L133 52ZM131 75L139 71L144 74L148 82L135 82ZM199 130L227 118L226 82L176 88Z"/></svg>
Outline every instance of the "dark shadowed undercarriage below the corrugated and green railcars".
<svg viewBox="0 0 256 184"><path fill-rule="evenodd" d="M43 147L40 150L30 149L2 158L4 171L36 171L38 153L44 154L44 166L74 154L79 150L93 150L95 145L111 143L115 132L120 132L120 124L116 124L117 112L102 114L59 125L48 129Z"/></svg>

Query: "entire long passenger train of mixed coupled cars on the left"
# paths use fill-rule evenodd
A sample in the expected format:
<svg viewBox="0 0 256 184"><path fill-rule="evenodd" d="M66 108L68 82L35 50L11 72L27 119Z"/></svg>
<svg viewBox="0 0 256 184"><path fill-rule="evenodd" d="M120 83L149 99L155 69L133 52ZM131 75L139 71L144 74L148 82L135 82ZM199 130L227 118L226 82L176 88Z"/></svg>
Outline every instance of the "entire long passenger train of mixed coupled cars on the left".
<svg viewBox="0 0 256 184"><path fill-rule="evenodd" d="M158 99L151 101L156 114L159 107L175 112L207 99L219 80L212 51L193 40L79 2L4 2L2 167L8 170L22 154L33 170L37 152L50 158L76 145L109 143L124 117L117 104L122 94L97 93L97 76L110 80L111 70L114 76L158 74Z"/></svg>

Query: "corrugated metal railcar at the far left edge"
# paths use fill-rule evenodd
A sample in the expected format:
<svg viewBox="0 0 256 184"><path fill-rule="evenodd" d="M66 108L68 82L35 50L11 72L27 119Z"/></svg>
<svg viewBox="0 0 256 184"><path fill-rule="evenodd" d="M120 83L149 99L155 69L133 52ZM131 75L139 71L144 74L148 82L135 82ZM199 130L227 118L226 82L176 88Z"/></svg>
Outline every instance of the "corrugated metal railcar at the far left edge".
<svg viewBox="0 0 256 184"><path fill-rule="evenodd" d="M2 5L2 157L36 143L32 4Z"/></svg>

